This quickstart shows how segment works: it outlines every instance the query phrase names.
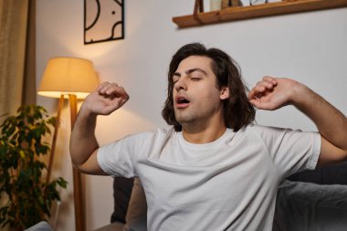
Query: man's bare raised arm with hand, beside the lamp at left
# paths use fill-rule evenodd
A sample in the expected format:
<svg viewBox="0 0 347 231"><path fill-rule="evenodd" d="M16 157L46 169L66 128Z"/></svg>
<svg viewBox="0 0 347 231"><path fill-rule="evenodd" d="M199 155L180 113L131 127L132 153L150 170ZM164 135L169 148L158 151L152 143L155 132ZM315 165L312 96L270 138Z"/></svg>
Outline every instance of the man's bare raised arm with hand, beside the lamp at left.
<svg viewBox="0 0 347 231"><path fill-rule="evenodd" d="M89 94L80 107L70 138L72 163L79 171L105 174L97 161L99 144L95 137L98 115L109 115L129 100L127 92L116 83L104 82Z"/></svg>

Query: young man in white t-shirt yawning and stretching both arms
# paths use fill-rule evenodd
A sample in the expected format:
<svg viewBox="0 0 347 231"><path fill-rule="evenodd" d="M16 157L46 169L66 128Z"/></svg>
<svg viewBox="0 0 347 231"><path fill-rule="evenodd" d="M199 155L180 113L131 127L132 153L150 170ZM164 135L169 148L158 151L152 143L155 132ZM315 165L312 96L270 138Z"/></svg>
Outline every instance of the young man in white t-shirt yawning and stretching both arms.
<svg viewBox="0 0 347 231"><path fill-rule="evenodd" d="M347 120L292 79L264 77L250 90L225 52L188 44L174 55L163 118L169 130L100 147L98 115L129 99L102 83L84 101L70 153L83 173L140 177L148 230L271 230L280 182L292 173L347 159ZM255 110L294 105L319 132L252 124Z"/></svg>

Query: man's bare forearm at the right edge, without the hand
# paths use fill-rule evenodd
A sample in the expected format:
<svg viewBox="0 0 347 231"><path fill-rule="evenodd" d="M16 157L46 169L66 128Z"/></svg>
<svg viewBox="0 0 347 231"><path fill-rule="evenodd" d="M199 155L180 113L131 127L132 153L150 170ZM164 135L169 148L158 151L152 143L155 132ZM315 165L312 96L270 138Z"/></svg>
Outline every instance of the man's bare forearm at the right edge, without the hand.
<svg viewBox="0 0 347 231"><path fill-rule="evenodd" d="M298 84L294 92L294 106L316 124L321 136L336 147L347 150L347 119L345 115L302 84Z"/></svg>

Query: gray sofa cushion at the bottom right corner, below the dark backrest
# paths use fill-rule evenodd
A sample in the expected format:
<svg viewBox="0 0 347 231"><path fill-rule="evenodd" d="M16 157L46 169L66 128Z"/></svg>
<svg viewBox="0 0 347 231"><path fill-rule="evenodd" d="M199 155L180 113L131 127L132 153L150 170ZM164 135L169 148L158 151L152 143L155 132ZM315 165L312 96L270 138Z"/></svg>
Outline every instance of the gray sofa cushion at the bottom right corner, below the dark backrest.
<svg viewBox="0 0 347 231"><path fill-rule="evenodd" d="M279 186L273 231L342 231L347 185L285 181Z"/></svg>

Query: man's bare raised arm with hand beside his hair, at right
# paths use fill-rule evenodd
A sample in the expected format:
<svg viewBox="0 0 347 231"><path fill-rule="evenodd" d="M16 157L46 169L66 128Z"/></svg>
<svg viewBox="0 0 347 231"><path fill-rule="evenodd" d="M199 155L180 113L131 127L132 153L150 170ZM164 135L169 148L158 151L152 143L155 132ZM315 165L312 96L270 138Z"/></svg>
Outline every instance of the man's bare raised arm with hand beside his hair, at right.
<svg viewBox="0 0 347 231"><path fill-rule="evenodd" d="M260 110L293 105L307 115L321 133L319 165L347 160L347 118L320 95L293 79L264 77L248 94Z"/></svg>

